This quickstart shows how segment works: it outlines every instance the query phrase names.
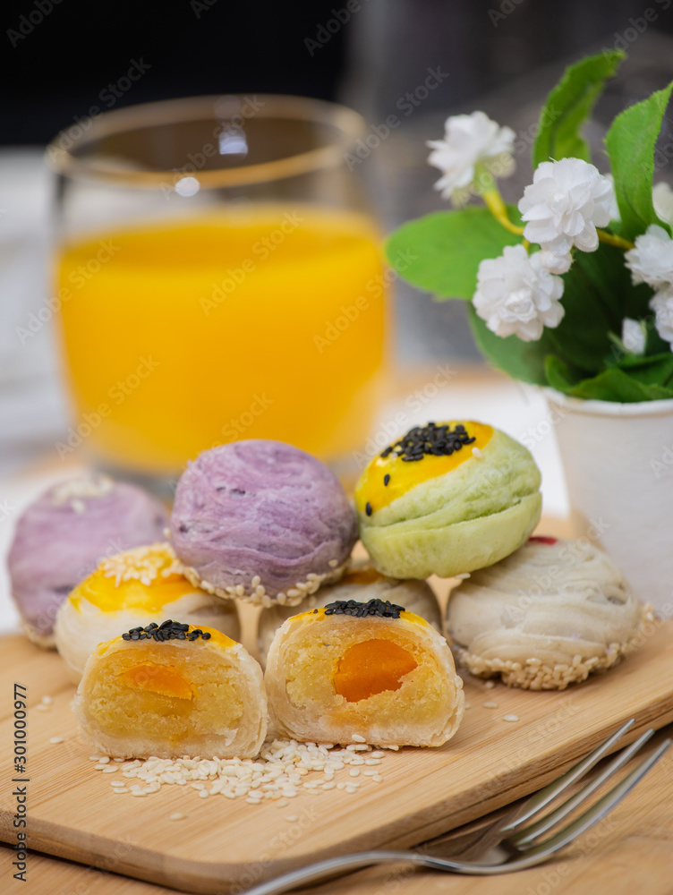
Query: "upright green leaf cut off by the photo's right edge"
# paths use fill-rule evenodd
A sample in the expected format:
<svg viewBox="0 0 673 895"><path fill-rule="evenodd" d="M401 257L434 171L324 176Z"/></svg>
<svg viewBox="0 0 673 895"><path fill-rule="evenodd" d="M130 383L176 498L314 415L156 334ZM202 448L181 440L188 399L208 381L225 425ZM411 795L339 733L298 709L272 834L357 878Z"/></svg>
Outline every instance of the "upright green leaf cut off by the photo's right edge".
<svg viewBox="0 0 673 895"><path fill-rule="evenodd" d="M673 82L648 99L621 112L612 123L605 143L608 148L615 193L621 217L620 233L634 240L650 224L662 224L652 204L654 147L661 119L669 104Z"/></svg>

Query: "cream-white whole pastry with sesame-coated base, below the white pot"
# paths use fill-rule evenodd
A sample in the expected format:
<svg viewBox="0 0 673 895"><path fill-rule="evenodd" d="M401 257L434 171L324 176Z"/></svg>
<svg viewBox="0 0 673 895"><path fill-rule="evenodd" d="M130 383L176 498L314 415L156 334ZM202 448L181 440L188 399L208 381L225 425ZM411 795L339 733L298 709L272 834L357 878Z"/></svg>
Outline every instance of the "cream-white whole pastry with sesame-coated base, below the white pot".
<svg viewBox="0 0 673 895"><path fill-rule="evenodd" d="M563 690L635 649L647 609L586 539L531 538L449 597L447 632L474 675Z"/></svg>

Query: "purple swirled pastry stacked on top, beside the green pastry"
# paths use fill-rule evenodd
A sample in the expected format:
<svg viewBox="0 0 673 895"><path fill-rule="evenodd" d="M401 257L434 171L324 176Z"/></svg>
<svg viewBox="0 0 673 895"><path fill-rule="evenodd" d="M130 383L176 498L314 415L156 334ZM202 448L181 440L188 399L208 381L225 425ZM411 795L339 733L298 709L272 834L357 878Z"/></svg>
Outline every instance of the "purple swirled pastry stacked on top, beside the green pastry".
<svg viewBox="0 0 673 895"><path fill-rule="evenodd" d="M220 597L294 606L337 581L357 519L337 476L282 441L213 447L175 491L170 541L192 584Z"/></svg>

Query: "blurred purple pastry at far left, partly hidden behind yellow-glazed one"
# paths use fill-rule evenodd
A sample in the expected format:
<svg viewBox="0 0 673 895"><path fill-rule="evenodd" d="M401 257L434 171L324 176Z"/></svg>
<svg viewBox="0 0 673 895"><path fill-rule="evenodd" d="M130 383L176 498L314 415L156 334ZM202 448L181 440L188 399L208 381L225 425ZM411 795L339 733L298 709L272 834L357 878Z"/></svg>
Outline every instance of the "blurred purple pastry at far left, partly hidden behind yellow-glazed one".
<svg viewBox="0 0 673 895"><path fill-rule="evenodd" d="M16 524L7 557L12 595L33 643L54 645L56 611L72 588L107 556L163 541L164 507L106 475L45 491Z"/></svg>

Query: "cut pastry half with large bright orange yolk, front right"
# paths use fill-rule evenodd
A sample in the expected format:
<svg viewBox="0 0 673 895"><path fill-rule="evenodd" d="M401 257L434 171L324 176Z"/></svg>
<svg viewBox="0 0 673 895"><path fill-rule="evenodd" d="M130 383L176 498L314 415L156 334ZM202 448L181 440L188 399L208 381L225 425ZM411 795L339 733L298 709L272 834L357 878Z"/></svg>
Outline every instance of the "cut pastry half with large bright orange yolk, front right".
<svg viewBox="0 0 673 895"><path fill-rule="evenodd" d="M335 601L288 618L265 681L271 719L300 741L441 746L464 712L444 637L388 601Z"/></svg>

